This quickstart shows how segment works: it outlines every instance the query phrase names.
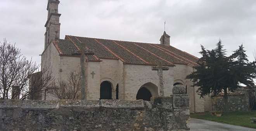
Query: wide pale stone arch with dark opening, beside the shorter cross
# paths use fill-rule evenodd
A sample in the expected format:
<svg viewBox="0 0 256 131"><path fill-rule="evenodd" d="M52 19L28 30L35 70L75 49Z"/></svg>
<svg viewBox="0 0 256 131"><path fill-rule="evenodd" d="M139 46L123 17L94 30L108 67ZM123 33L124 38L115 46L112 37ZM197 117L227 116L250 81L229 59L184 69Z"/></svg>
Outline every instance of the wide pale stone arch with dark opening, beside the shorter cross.
<svg viewBox="0 0 256 131"><path fill-rule="evenodd" d="M150 101L150 97L152 96L158 96L158 87L155 84L148 82L140 87L137 92L136 99Z"/></svg>

